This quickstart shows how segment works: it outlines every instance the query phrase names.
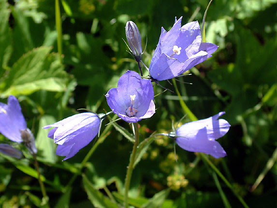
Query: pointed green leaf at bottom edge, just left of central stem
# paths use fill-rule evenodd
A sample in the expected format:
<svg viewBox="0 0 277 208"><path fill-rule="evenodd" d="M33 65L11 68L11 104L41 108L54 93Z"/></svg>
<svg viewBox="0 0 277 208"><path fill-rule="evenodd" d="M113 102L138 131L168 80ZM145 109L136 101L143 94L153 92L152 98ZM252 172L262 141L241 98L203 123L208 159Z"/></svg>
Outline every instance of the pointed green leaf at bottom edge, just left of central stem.
<svg viewBox="0 0 277 208"><path fill-rule="evenodd" d="M87 177L83 175L83 183L87 192L88 199L96 208L118 208L117 204L110 201L100 191L96 190L88 181Z"/></svg>

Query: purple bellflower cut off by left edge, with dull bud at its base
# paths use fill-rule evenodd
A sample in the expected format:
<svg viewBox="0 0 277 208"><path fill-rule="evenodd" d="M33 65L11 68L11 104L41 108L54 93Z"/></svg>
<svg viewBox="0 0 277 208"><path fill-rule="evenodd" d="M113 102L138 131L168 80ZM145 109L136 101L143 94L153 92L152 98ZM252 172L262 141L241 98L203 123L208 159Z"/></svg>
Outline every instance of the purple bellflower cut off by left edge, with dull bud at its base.
<svg viewBox="0 0 277 208"><path fill-rule="evenodd" d="M37 153L34 136L27 128L20 104L13 95L9 96L8 104L0 103L0 133L14 142L22 142L32 154Z"/></svg>

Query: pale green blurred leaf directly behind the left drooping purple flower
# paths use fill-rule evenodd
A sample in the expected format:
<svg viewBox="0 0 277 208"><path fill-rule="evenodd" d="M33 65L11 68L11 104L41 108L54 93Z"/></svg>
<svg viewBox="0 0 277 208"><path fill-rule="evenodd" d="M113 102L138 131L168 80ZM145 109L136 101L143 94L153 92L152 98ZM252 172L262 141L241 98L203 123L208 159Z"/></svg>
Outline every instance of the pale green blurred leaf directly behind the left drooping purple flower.
<svg viewBox="0 0 277 208"><path fill-rule="evenodd" d="M53 139L47 137L49 129L43 129L44 126L55 123L56 119L52 116L43 116L39 122L39 132L36 137L36 147L39 151L39 156L44 158L45 162L55 163L57 161L56 145Z"/></svg>

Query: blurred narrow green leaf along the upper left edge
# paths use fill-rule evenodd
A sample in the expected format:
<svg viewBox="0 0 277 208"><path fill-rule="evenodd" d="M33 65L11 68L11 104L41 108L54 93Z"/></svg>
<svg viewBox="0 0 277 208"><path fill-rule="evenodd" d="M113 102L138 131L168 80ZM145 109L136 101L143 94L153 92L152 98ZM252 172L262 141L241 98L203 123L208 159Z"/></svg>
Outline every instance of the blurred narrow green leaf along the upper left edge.
<svg viewBox="0 0 277 208"><path fill-rule="evenodd" d="M10 10L6 0L0 0L0 77L12 53L12 32L9 28ZM1 82L1 80L0 80Z"/></svg>

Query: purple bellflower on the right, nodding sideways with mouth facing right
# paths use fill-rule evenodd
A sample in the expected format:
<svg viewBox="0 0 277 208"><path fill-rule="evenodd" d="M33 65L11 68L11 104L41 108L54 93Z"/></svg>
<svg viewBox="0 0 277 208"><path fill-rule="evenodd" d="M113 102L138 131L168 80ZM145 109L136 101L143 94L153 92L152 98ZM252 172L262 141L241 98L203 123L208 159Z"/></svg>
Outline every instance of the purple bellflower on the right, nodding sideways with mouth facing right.
<svg viewBox="0 0 277 208"><path fill-rule="evenodd" d="M176 143L182 149L192 152L204 152L215 158L226 156L225 150L216 139L224 136L230 128L228 121L219 119L220 112L207 119L192 121L180 126L176 132Z"/></svg>

